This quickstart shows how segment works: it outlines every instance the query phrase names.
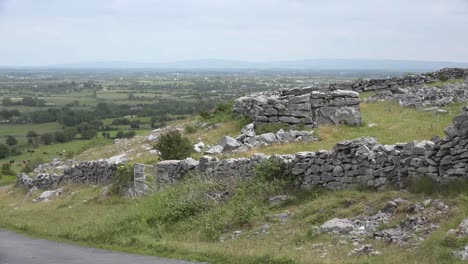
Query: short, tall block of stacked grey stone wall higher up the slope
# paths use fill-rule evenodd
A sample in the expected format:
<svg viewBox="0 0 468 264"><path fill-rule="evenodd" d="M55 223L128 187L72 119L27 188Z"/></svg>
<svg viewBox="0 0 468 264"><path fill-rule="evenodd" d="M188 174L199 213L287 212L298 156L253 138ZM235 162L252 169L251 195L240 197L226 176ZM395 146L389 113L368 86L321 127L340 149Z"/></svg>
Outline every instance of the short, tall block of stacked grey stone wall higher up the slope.
<svg viewBox="0 0 468 264"><path fill-rule="evenodd" d="M359 102L359 94L353 91L306 88L241 97L235 101L233 111L251 117L255 124L356 125L361 123Z"/></svg>

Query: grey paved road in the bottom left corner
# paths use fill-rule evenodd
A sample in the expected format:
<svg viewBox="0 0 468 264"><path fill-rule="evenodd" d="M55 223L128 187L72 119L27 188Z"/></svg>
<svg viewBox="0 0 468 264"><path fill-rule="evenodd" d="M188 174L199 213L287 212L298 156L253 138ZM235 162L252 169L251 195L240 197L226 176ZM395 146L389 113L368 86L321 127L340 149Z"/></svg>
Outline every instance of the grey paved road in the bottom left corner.
<svg viewBox="0 0 468 264"><path fill-rule="evenodd" d="M33 239L0 230L0 264L189 264Z"/></svg>

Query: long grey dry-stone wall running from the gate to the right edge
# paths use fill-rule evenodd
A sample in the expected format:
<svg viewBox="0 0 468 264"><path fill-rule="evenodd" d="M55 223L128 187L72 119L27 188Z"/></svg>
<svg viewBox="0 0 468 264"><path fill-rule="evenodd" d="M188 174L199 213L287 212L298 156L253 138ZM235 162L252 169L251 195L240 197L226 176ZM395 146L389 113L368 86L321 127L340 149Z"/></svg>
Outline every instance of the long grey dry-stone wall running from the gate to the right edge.
<svg viewBox="0 0 468 264"><path fill-rule="evenodd" d="M429 176L438 182L468 178L468 108L445 130L447 137L432 141L378 144L363 137L338 143L331 151L300 152L274 157L289 168L296 182L308 188L343 189L368 186L405 188L414 178ZM160 183L172 184L187 172L211 177L254 176L254 167L270 156L218 160L204 156L199 161L164 161L155 164Z"/></svg>

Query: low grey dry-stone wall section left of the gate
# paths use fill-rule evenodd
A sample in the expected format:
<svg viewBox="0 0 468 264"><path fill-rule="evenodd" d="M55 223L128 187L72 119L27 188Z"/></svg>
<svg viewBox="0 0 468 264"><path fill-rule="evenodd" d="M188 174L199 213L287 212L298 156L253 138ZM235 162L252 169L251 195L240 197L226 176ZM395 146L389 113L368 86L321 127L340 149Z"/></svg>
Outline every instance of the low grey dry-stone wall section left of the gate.
<svg viewBox="0 0 468 264"><path fill-rule="evenodd" d="M31 179L28 175L20 173L17 176L17 185L31 189L49 189L59 184L101 184L112 183L116 164L107 161L87 161L66 169L63 174L41 173Z"/></svg>

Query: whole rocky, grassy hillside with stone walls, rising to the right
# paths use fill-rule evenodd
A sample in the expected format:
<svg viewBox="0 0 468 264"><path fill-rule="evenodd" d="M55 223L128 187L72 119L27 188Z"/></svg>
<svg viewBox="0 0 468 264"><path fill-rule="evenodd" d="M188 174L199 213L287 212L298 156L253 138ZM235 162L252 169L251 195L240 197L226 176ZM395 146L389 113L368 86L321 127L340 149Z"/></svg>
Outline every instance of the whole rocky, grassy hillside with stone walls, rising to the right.
<svg viewBox="0 0 468 264"><path fill-rule="evenodd" d="M437 103L427 96L422 106L407 106L405 100L414 99L414 91L429 95L434 89ZM464 90L464 80L440 80L379 87L361 92L357 101L357 93L336 90L254 96L254 103L278 117L281 113L271 110L270 103L286 109L287 116L292 113L287 103L294 102L294 107L310 104L314 113L333 108L331 116L340 118L357 102L359 115L353 112L353 118L359 124L353 125L320 123L337 120L323 116L309 127L264 122L263 110L241 117L232 112L233 102L218 104L148 135L84 150L63 174L53 173L64 165L60 163L44 165L44 173L31 181L26 174L19 176L18 187L0 189L0 227L209 263L463 263L468 119L462 110L465 97L450 93ZM441 93L451 101L441 104L446 102ZM321 96L326 100L316 104ZM310 101L296 103L304 98ZM348 112L344 117L350 120ZM153 146L174 130L190 146L204 146L198 145L201 150L193 151L192 159L161 162ZM278 136L293 134L293 139ZM275 141L262 141L271 135ZM221 150L213 151L217 146ZM124 162L111 163L116 159ZM111 176L103 176L101 162L109 164L105 172ZM156 172L136 170L140 163ZM143 188L150 188L139 196L134 177L141 174L147 176ZM372 178L365 178L367 174ZM44 198L36 187L47 188L34 184L55 191Z"/></svg>

